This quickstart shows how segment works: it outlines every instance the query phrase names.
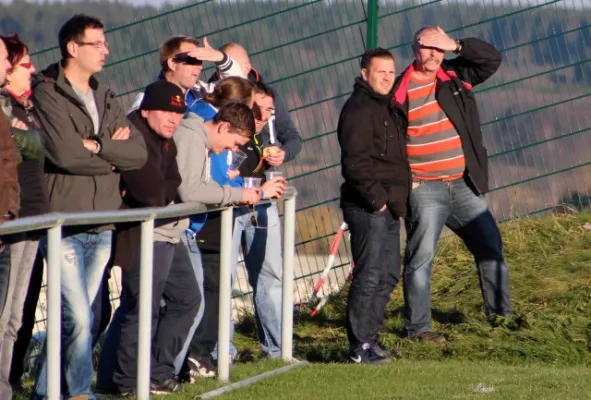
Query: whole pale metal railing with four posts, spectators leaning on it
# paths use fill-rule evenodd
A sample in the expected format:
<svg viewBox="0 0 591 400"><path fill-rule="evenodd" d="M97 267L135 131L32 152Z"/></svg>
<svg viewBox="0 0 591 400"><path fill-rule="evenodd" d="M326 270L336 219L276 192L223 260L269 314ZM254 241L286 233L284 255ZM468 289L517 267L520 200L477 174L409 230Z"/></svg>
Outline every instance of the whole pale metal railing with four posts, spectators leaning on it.
<svg viewBox="0 0 591 400"><path fill-rule="evenodd" d="M283 224L283 295L282 347L285 361L292 359L293 277L295 244L295 200L297 190L289 188L279 200L284 203ZM137 352L137 398L150 396L151 299L153 272L154 220L186 217L221 211L220 304L218 333L218 379L230 378L230 323L232 286L232 221L234 207L208 208L200 203L176 204L162 208L100 211L90 213L51 213L0 224L0 236L47 229L47 398L59 400L61 390L61 239L62 228L80 225L101 225L120 222L141 222L140 298Z"/></svg>

